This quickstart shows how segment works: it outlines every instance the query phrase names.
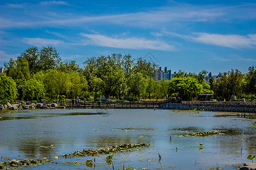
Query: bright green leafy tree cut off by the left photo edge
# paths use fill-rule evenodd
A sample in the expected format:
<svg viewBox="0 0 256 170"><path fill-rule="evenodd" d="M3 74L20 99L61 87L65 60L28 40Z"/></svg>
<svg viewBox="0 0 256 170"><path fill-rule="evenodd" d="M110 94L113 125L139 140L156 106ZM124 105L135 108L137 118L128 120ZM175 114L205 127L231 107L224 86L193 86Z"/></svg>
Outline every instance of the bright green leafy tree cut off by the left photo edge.
<svg viewBox="0 0 256 170"><path fill-rule="evenodd" d="M15 81L4 73L0 74L0 100L10 100L12 103L17 98L18 90Z"/></svg>

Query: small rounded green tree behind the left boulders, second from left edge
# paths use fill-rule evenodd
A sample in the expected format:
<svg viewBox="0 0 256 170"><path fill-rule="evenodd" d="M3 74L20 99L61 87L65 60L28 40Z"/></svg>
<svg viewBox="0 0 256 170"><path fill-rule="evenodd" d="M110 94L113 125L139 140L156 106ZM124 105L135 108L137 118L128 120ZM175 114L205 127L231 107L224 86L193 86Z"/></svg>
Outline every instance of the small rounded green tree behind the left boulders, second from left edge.
<svg viewBox="0 0 256 170"><path fill-rule="evenodd" d="M25 100L40 100L44 98L45 88L42 82L35 79L29 79L22 88L22 97Z"/></svg>

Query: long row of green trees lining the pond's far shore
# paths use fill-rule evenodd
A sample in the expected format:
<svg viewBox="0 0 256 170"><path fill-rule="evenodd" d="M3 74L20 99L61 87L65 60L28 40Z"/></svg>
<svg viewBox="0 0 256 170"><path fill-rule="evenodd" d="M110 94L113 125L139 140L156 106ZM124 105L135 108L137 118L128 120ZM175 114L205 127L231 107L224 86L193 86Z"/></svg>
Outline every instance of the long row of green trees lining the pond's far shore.
<svg viewBox="0 0 256 170"><path fill-rule="evenodd" d="M238 70L223 73L216 81L210 79L208 85L205 70L198 75L179 71L171 80L155 81L158 66L130 55L89 57L83 65L80 68L75 61L61 61L52 47L29 48L18 59L5 63L6 75L0 76L0 100L57 99L61 95L87 99L114 96L121 100L192 100L200 93L214 93L229 101L234 95L255 96L256 91L254 67L247 74Z"/></svg>

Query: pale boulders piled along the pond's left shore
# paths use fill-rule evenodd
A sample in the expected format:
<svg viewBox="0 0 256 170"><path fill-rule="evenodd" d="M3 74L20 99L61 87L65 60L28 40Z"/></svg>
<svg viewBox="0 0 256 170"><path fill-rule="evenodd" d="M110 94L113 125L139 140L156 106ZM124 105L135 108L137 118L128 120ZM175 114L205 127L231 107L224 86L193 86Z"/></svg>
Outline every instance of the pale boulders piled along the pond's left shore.
<svg viewBox="0 0 256 170"><path fill-rule="evenodd" d="M15 103L15 104L0 104L0 111L3 111L5 109L9 109L9 110L23 110L23 109L65 109L64 106L58 106L56 103L51 103L51 104L46 104L44 105L43 103L26 103L26 102L22 102L22 103Z"/></svg>

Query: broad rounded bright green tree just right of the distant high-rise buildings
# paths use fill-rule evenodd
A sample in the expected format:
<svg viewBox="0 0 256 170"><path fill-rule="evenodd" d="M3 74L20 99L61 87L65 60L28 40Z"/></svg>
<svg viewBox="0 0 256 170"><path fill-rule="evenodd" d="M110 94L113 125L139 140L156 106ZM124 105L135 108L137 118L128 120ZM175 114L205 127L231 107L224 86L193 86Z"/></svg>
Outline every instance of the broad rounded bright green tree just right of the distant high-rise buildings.
<svg viewBox="0 0 256 170"><path fill-rule="evenodd" d="M195 99L203 86L195 78L172 78L168 86L168 94L180 100Z"/></svg>

